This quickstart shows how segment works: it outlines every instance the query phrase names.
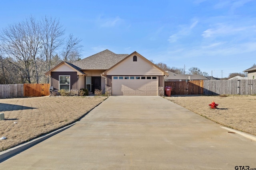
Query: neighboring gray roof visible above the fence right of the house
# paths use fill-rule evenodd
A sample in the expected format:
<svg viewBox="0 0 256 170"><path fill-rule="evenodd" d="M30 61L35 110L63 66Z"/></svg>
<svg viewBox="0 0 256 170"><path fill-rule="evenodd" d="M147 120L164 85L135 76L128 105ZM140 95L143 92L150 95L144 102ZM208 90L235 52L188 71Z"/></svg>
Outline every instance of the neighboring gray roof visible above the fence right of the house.
<svg viewBox="0 0 256 170"><path fill-rule="evenodd" d="M169 76L164 78L168 80L209 80L200 74L175 74L174 72L167 71Z"/></svg>

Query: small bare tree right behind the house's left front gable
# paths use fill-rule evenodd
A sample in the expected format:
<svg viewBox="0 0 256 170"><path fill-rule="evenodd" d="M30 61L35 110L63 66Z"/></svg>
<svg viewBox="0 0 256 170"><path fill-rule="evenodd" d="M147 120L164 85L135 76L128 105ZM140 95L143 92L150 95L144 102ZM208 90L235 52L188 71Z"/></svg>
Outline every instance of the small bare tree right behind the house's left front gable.
<svg viewBox="0 0 256 170"><path fill-rule="evenodd" d="M79 61L81 58L80 52L82 51L82 45L79 43L82 39L74 37L73 34L68 36L66 44L61 52L63 61L74 63Z"/></svg>

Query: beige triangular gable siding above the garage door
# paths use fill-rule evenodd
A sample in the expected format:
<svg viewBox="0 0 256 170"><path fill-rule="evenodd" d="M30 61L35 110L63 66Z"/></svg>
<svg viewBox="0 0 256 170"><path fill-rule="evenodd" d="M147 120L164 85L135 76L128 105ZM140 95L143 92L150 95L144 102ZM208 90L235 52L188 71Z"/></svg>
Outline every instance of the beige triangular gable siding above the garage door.
<svg viewBox="0 0 256 170"><path fill-rule="evenodd" d="M124 76L162 76L164 73L137 55L137 61L133 61L133 55L107 71L107 75Z"/></svg>

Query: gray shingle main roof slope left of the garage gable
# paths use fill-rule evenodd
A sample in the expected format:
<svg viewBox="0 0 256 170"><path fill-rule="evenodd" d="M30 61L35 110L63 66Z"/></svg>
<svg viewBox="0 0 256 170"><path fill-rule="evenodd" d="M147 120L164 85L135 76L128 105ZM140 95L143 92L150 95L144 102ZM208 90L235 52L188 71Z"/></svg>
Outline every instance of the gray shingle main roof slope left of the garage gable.
<svg viewBox="0 0 256 170"><path fill-rule="evenodd" d="M106 49L72 64L80 70L107 70L127 56L128 54L115 54Z"/></svg>

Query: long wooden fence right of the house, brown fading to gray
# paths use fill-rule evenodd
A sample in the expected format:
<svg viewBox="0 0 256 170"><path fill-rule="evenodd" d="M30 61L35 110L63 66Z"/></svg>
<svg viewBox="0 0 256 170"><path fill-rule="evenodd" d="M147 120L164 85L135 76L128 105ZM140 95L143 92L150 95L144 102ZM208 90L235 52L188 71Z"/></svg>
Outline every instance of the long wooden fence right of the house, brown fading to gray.
<svg viewBox="0 0 256 170"><path fill-rule="evenodd" d="M164 85L172 86L172 95L256 94L256 80L192 80L165 82Z"/></svg>

